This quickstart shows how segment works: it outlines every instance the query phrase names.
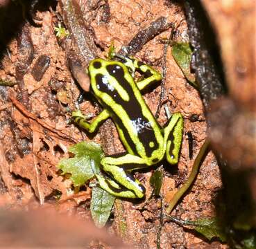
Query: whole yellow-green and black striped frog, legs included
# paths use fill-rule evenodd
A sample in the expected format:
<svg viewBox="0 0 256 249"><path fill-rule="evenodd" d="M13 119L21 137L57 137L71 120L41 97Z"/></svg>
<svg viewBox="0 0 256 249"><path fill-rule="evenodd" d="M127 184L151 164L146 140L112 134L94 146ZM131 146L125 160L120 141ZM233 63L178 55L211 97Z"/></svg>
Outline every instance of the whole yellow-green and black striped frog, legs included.
<svg viewBox="0 0 256 249"><path fill-rule="evenodd" d="M137 82L134 80L136 71L143 75ZM105 120L112 118L126 149L101 159L101 174L95 173L99 186L119 198L142 199L146 190L134 172L159 165L164 158L171 165L178 163L182 114L173 113L167 124L160 126L142 91L161 82L162 75L139 59L96 58L89 62L87 73L90 91L103 110L91 122L80 111L74 111L74 121L89 133L95 133Z"/></svg>

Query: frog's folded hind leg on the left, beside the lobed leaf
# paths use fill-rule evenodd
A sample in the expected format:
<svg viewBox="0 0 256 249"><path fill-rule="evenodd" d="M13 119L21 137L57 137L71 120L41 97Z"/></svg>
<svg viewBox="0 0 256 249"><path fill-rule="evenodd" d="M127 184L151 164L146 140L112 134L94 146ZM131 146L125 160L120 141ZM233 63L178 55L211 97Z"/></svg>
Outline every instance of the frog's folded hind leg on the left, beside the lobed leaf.
<svg viewBox="0 0 256 249"><path fill-rule="evenodd" d="M103 171L114 180L96 176L104 190L123 198L142 198L144 196L145 188L130 174L135 169L147 167L143 158L131 154L117 158L108 156L101 160L101 165Z"/></svg>

